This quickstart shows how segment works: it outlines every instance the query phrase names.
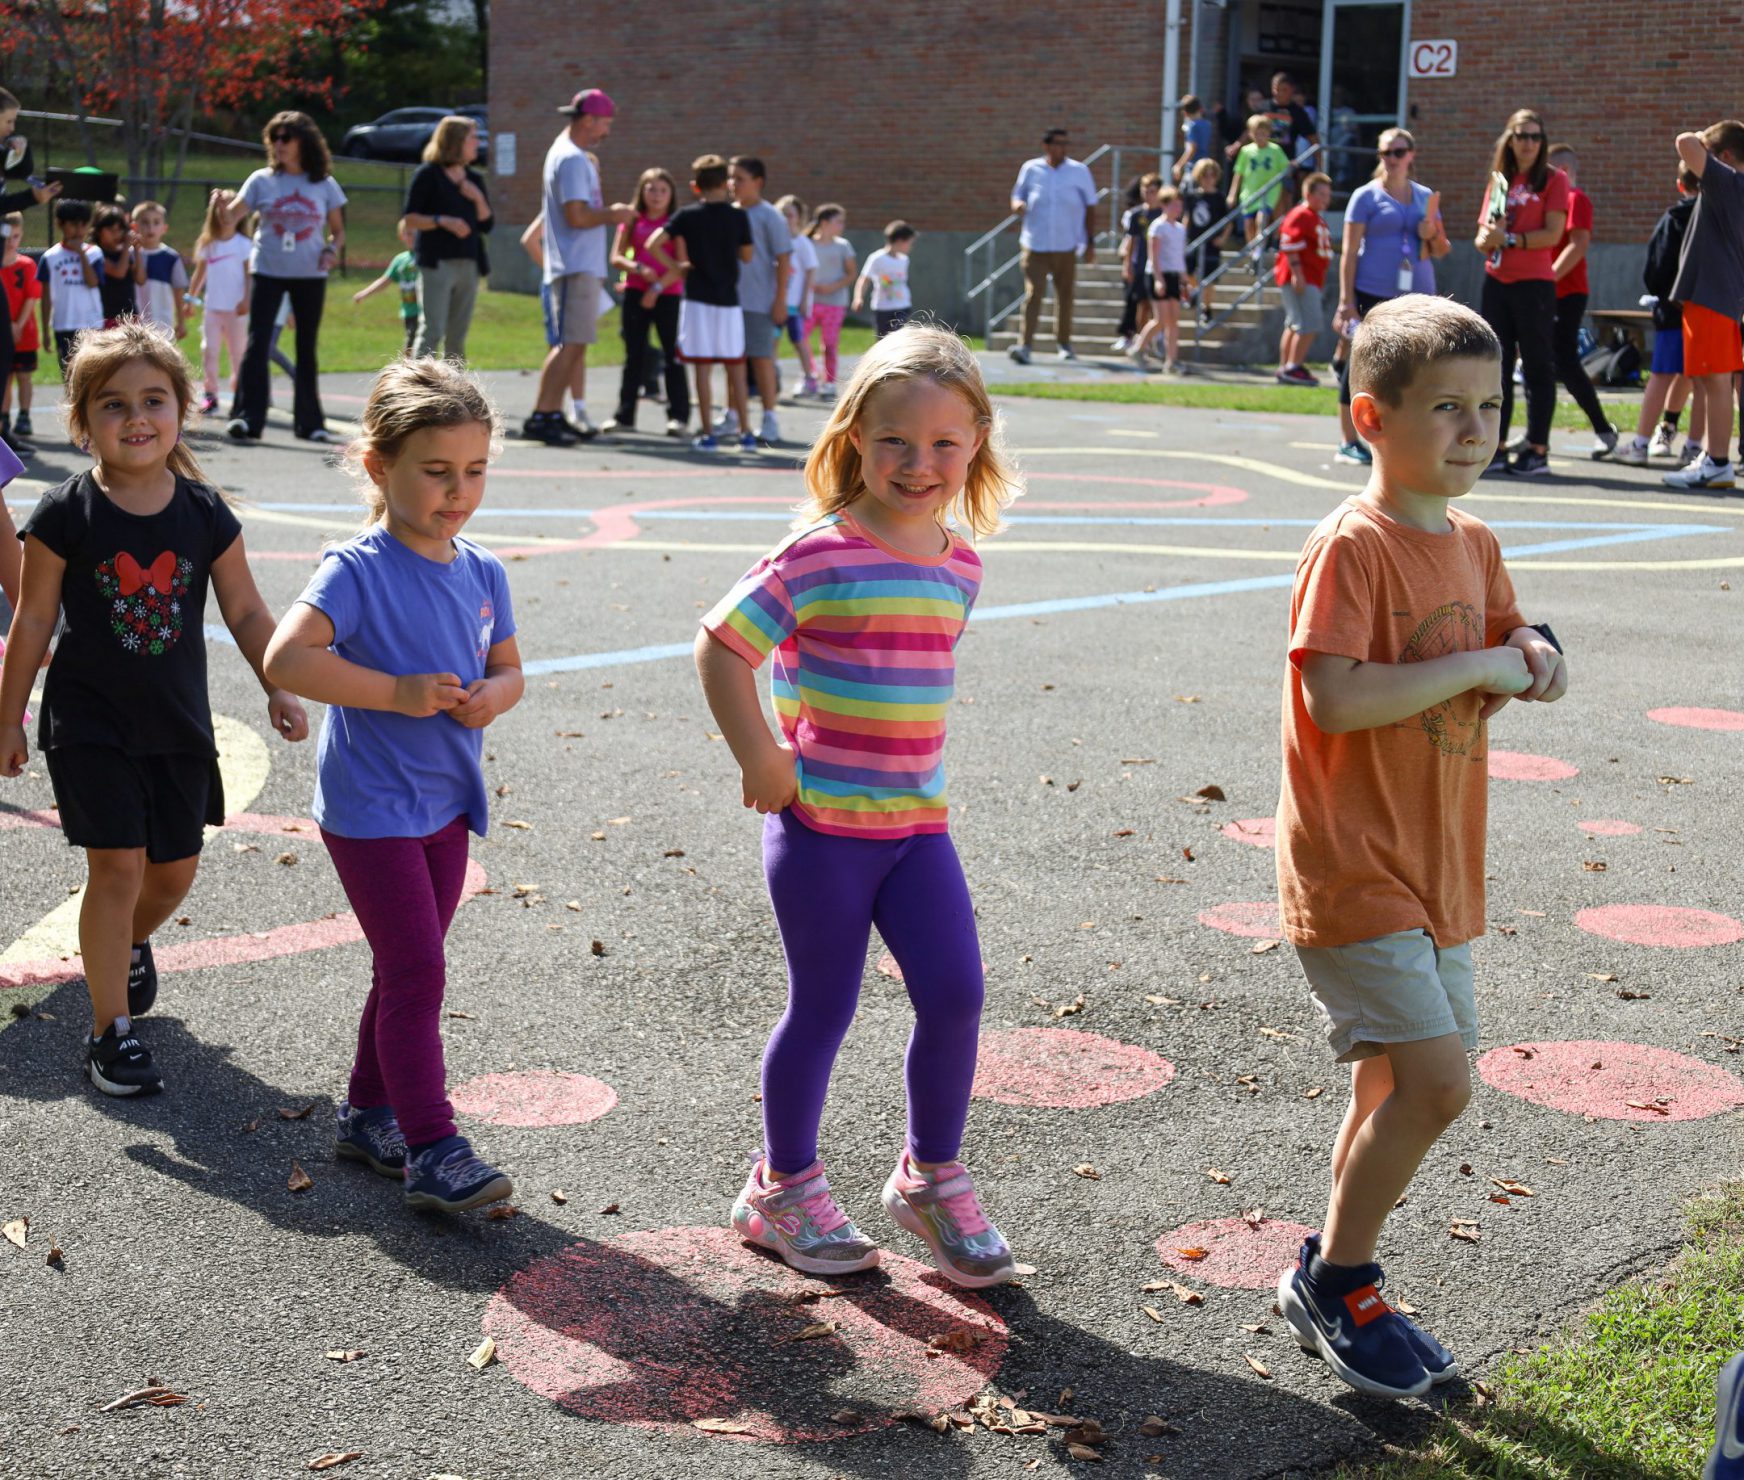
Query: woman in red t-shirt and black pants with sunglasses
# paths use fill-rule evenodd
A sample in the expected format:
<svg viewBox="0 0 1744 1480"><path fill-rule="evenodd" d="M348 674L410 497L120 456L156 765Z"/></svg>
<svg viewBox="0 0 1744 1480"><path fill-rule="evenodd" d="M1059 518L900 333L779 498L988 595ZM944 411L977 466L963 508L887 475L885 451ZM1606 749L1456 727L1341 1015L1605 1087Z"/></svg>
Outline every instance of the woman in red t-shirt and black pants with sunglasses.
<svg viewBox="0 0 1744 1480"><path fill-rule="evenodd" d="M1550 167L1543 119L1521 108L1496 139L1491 173L1509 181L1505 218L1489 220L1489 192L1474 246L1488 258L1479 310L1502 340L1502 431L1491 469L1516 478L1550 471L1556 411L1556 244L1568 223L1568 176ZM1526 445L1507 460L1514 420L1514 357L1526 377Z"/></svg>

